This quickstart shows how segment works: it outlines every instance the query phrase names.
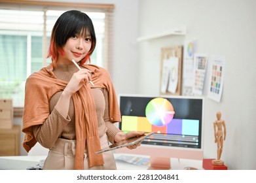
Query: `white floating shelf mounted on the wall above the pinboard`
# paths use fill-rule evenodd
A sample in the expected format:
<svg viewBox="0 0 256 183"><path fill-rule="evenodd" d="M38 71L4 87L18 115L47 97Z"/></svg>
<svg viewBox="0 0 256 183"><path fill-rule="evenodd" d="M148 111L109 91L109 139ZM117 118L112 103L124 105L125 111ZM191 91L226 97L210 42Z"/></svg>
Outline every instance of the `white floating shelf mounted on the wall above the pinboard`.
<svg viewBox="0 0 256 183"><path fill-rule="evenodd" d="M186 27L179 27L177 29L172 29L170 31L166 31L165 33L158 33L155 35L145 36L145 37L138 37L137 42L141 41L149 41L151 39L158 39L160 37L166 37L171 35L185 35L186 34Z"/></svg>

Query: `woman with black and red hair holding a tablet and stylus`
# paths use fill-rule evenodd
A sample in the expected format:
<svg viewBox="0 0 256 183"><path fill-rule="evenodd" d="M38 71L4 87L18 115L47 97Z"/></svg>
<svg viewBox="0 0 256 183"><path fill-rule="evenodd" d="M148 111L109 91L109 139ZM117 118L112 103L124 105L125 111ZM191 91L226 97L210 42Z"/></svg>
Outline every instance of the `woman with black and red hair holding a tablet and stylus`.
<svg viewBox="0 0 256 183"><path fill-rule="evenodd" d="M52 63L27 78L23 146L29 152L39 142L50 149L44 169L117 169L112 152L95 152L144 134L113 124L120 111L109 73L86 64L95 46L92 20L78 10L64 12L52 29Z"/></svg>

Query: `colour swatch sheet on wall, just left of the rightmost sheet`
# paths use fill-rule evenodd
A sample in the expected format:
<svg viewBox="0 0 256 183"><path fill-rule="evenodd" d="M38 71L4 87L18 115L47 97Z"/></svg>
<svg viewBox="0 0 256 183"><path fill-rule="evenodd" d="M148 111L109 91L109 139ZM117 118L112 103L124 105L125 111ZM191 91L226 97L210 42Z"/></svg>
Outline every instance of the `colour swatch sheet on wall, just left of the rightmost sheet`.
<svg viewBox="0 0 256 183"><path fill-rule="evenodd" d="M192 88L194 95L202 95L203 93L207 62L208 56L206 54L194 54L194 84Z"/></svg>

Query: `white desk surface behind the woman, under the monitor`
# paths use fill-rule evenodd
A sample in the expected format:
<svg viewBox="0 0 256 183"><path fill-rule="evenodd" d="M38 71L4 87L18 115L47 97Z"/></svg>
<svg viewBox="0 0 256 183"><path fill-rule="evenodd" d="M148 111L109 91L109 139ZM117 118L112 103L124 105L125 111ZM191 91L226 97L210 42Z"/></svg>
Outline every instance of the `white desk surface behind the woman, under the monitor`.
<svg viewBox="0 0 256 183"><path fill-rule="evenodd" d="M114 154L115 158L125 154ZM147 157L147 156L142 156ZM5 170L26 170L27 167L33 167L39 164L39 161L45 159L46 156L1 156L0 169ZM171 160L172 169L185 169L185 167L195 167L196 169L203 169L202 161L192 159L177 159ZM130 163L117 161L118 170L146 170L149 167L132 165Z"/></svg>

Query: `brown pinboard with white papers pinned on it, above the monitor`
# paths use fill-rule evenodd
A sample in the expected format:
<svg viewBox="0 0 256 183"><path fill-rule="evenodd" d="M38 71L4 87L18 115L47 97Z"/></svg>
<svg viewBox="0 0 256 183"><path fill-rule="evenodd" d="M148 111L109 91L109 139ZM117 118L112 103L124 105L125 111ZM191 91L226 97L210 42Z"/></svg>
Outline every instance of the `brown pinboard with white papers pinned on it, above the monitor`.
<svg viewBox="0 0 256 183"><path fill-rule="evenodd" d="M183 47L162 48L160 93L181 95Z"/></svg>

